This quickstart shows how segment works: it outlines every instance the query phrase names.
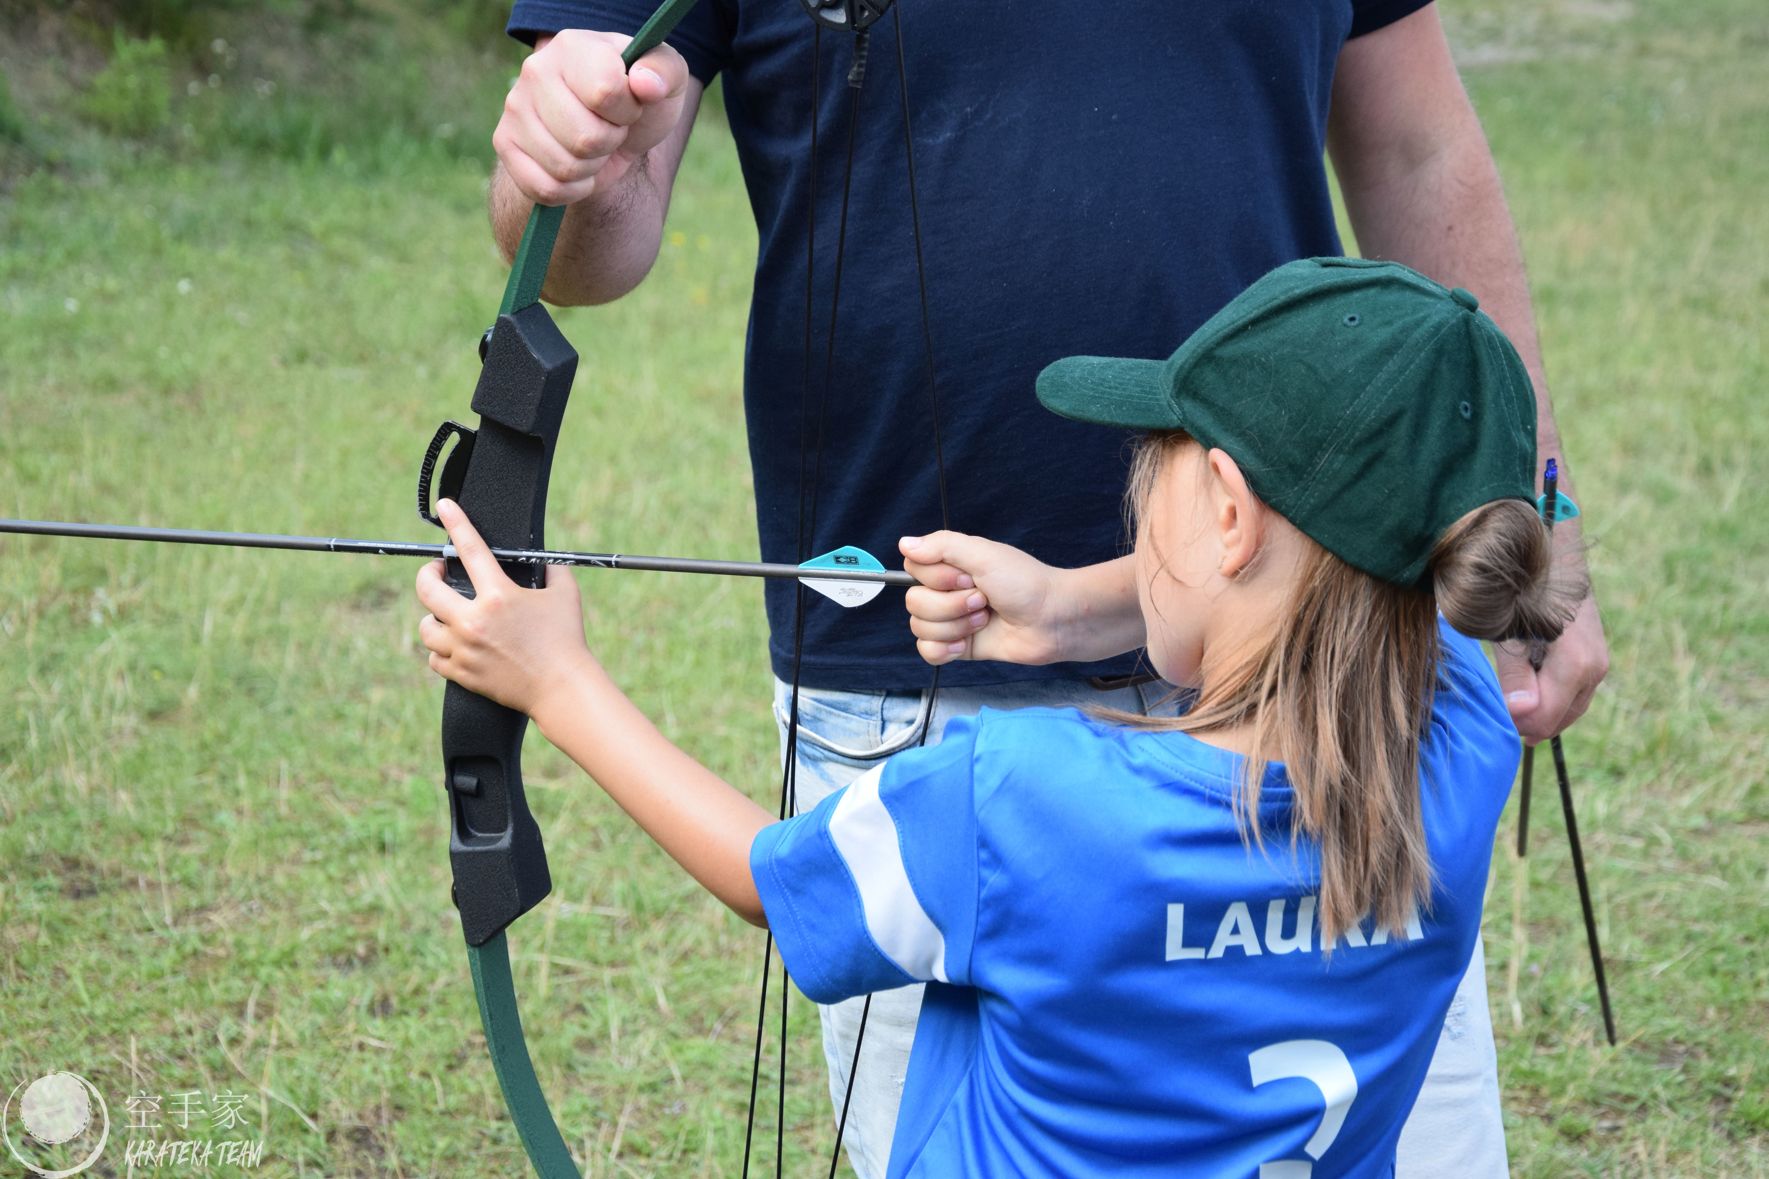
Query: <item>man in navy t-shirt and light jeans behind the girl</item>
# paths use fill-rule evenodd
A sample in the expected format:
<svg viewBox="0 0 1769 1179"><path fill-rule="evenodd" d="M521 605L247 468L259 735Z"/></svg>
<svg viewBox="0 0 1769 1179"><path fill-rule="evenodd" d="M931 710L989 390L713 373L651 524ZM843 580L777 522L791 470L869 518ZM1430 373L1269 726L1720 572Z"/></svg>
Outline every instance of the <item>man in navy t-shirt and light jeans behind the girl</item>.
<svg viewBox="0 0 1769 1179"><path fill-rule="evenodd" d="M899 5L902 41L893 18L872 27L858 90L847 85L853 35L814 35L798 0L701 0L632 74L619 49L651 0L517 0L509 23L538 53L497 129L492 217L508 255L532 200L571 205L548 274L555 302L617 299L649 270L693 113L704 87L724 78L759 228L745 401L762 559L800 560L840 544L890 553L900 536L943 525L932 368L950 527L1056 566L1122 574L1113 559L1125 539L1125 435L1045 414L1033 377L1072 354L1164 357L1272 267L1339 253L1327 150L1362 251L1475 292L1516 343L1537 385L1543 454L1566 470L1516 233L1431 5ZM932 357L899 85L915 131ZM826 405L828 417L814 430L823 475L816 529L801 543L800 470L803 447L814 445L801 431L807 399ZM1576 543L1567 529L1557 536ZM1125 686L1137 668L1123 656L953 663L932 700L900 603L886 592L856 610L821 599L808 608L800 810L984 705L1141 707L1152 698ZM791 587L770 585L768 615L773 666L789 679ZM1587 601L1541 675L1502 656L1500 679L1520 730L1544 739L1583 712L1604 670ZM784 696L782 688L782 716ZM883 1179L920 999L920 988L902 988L872 1008L849 1117L862 1179ZM1456 1011L1467 1025L1440 1045L1401 1142L1403 1175L1419 1174L1410 1158L1421 1154L1435 1174L1504 1174L1479 947L1452 1020ZM856 1016L858 1000L824 1009L837 1094Z"/></svg>

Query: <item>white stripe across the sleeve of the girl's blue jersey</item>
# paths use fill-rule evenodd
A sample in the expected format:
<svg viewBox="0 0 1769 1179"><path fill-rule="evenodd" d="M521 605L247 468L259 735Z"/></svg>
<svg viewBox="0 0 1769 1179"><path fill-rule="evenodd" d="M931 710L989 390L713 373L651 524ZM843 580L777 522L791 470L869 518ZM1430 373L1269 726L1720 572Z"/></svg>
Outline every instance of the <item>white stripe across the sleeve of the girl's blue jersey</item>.
<svg viewBox="0 0 1769 1179"><path fill-rule="evenodd" d="M946 939L909 884L897 824L879 799L879 765L856 778L830 815L830 838L860 889L867 930L884 956L913 979L946 981Z"/></svg>

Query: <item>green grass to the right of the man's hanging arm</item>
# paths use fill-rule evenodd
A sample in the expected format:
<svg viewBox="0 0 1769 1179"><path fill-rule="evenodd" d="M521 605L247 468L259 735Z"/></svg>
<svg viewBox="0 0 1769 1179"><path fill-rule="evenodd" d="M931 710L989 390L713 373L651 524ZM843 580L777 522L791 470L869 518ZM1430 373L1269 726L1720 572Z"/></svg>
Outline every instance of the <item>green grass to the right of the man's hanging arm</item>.
<svg viewBox="0 0 1769 1179"><path fill-rule="evenodd" d="M1769 14L1640 7L1578 21L1566 5L1539 58L1468 71L1523 230L1615 659L1566 744L1622 1046L1594 1046L1551 772L1525 935L1502 854L1488 960L1518 1174L1760 1175Z"/></svg>

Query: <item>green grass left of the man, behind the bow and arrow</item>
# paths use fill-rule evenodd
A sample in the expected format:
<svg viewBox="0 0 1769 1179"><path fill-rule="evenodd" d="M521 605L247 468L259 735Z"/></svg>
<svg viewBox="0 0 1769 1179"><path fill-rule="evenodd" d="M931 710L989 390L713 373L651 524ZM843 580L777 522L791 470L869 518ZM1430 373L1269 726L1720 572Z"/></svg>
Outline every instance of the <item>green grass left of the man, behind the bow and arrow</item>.
<svg viewBox="0 0 1769 1179"><path fill-rule="evenodd" d="M711 124L699 143L653 281L559 316L584 359L555 544L754 557L738 377L754 228L729 138ZM0 509L426 532L417 458L467 412L502 286L481 191L481 173L449 168L27 184L0 207ZM320 1128L269 1103L272 1174L520 1172L448 901L440 686L416 643L414 574L0 544L9 1089L55 1066L113 1103L136 1087L257 1094L237 1061ZM647 711L766 794L757 587L586 585L593 640ZM529 780L557 891L511 942L573 1147L598 1174L736 1174L761 935L545 742ZM828 1138L814 1022L794 1050L803 1170Z"/></svg>

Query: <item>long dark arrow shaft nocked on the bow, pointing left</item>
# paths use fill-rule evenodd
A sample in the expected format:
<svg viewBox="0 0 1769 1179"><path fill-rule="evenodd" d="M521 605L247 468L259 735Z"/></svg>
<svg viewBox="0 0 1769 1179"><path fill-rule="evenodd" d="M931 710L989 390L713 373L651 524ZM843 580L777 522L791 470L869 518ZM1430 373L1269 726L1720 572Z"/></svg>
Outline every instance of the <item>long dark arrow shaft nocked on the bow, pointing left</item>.
<svg viewBox="0 0 1769 1179"><path fill-rule="evenodd" d="M364 553L371 557L453 557L451 544L410 541L350 541L325 536L276 536L265 532L203 532L198 529L140 529L108 523L62 523L55 520L0 520L0 532L21 536L73 536L99 541L156 541L161 544L225 544L228 548L283 548L304 553ZM642 569L651 573L715 573L734 578L810 578L814 582L879 582L920 585L893 569L803 569L766 560L699 560L695 557L633 557L628 553L564 553L545 548L494 548L499 560L584 569Z"/></svg>

